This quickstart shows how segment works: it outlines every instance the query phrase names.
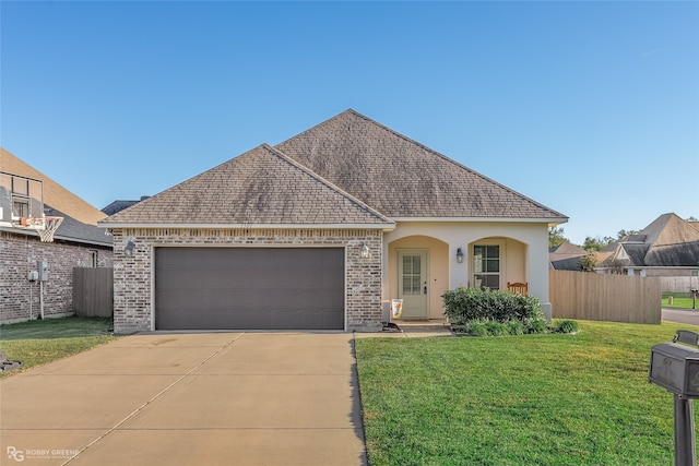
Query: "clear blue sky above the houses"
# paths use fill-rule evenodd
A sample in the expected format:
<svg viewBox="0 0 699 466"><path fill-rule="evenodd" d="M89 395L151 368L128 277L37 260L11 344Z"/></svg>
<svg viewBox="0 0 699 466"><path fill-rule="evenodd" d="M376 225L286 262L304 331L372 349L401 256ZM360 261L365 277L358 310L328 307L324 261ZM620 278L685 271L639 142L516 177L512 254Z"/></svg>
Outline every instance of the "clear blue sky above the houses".
<svg viewBox="0 0 699 466"><path fill-rule="evenodd" d="M0 144L98 208L353 108L570 217L699 217L699 2L0 2Z"/></svg>

